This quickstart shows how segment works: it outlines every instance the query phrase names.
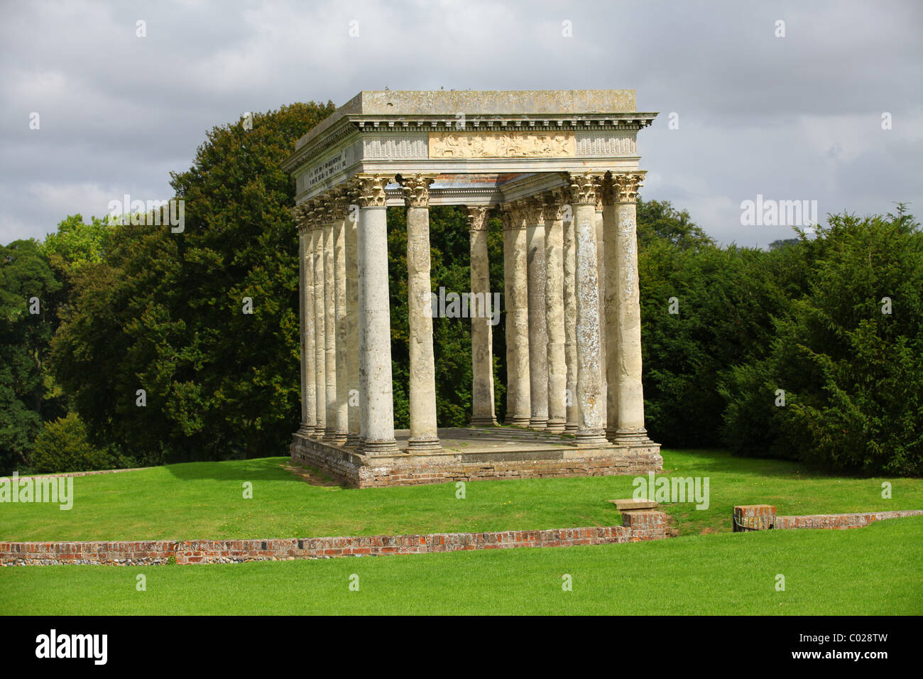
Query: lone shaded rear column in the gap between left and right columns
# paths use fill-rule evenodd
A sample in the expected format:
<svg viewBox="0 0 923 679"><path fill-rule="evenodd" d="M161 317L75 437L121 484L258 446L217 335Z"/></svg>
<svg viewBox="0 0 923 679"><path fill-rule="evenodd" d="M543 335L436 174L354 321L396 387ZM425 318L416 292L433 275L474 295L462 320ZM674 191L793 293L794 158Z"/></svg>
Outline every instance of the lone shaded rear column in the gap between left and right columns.
<svg viewBox="0 0 923 679"><path fill-rule="evenodd" d="M471 293L473 311L471 315L471 367L472 367L472 427L494 427L497 418L494 412L494 348L493 328L488 311L494 309L490 294L490 264L487 260L487 217L486 207L468 207L468 235L471 239ZM481 302L478 307L478 301Z"/></svg>

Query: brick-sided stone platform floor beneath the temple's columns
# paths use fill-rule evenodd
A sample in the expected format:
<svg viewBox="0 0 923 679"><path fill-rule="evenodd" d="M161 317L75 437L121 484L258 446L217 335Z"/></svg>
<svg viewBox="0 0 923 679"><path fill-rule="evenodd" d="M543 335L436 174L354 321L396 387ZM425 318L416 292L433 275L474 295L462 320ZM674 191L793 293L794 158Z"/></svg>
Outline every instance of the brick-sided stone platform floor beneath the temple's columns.
<svg viewBox="0 0 923 679"><path fill-rule="evenodd" d="M353 488L485 479L615 476L663 469L658 443L578 448L573 437L516 427L440 429L442 450L406 452L408 430L396 430L400 452L363 455L295 433L292 462L314 467Z"/></svg>

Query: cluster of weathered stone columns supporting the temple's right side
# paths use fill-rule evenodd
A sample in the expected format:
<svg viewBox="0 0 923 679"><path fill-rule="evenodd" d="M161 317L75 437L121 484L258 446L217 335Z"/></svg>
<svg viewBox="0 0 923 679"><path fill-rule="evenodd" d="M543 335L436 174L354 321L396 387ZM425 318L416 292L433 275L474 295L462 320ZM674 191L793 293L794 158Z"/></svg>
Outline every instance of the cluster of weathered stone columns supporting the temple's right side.
<svg viewBox="0 0 923 679"><path fill-rule="evenodd" d="M507 424L572 432L579 446L648 440L636 233L643 176L571 174L566 188L502 206ZM473 333L475 356L477 341ZM475 409L485 393L475 389Z"/></svg>

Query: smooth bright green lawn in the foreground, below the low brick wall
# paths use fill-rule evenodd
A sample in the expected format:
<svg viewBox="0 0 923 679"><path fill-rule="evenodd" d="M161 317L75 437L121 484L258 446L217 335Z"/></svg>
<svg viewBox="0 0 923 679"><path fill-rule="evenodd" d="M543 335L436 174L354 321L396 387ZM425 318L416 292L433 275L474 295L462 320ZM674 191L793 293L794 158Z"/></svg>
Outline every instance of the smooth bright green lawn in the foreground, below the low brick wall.
<svg viewBox="0 0 923 679"><path fill-rule="evenodd" d="M854 530L323 561L0 568L29 614L923 613L923 517ZM137 591L144 574L147 590ZM350 576L359 590L350 591ZM562 576L572 591L562 590ZM785 591L776 591L776 576ZM716 643L719 643L716 640Z"/></svg>

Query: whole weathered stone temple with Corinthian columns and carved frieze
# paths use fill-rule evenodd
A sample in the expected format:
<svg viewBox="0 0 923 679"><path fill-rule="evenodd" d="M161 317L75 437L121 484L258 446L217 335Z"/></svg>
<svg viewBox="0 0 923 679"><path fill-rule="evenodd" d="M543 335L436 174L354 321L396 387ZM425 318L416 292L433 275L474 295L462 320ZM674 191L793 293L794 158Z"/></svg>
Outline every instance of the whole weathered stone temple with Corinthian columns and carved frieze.
<svg viewBox="0 0 923 679"><path fill-rule="evenodd" d="M302 421L292 459L355 487L636 474L644 429L632 90L363 91L295 143ZM461 205L471 298L503 221L506 426L473 314L473 416L439 429L429 206ZM407 210L410 430L394 429L387 208ZM483 309L483 305L482 305Z"/></svg>

